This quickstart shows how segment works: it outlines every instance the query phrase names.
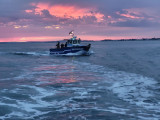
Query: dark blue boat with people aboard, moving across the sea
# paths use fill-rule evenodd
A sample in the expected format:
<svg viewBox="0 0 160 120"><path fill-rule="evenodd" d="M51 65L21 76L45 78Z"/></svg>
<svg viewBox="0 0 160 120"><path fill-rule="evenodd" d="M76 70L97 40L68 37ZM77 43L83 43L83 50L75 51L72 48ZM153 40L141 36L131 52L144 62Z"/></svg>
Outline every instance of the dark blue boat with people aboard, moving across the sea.
<svg viewBox="0 0 160 120"><path fill-rule="evenodd" d="M81 45L81 39L74 36L73 31L69 32L72 37L65 39L65 44L57 43L56 48L50 49L51 55L61 56L77 56L77 55L90 55L91 44Z"/></svg>

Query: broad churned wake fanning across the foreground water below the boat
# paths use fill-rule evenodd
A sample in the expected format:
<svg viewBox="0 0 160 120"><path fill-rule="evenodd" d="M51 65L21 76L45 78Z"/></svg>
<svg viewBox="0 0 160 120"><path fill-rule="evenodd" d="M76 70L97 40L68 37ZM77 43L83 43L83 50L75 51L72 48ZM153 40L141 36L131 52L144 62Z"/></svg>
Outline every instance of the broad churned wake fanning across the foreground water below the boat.
<svg viewBox="0 0 160 120"><path fill-rule="evenodd" d="M0 107L6 109L0 119L160 118L157 82L142 75L63 59L11 79L16 87L0 91Z"/></svg>

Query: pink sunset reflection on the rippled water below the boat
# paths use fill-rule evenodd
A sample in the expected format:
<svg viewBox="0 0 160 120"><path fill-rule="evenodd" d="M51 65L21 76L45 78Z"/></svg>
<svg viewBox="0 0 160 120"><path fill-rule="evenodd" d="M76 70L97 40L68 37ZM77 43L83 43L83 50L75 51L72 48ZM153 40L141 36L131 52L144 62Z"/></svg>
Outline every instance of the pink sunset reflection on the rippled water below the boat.
<svg viewBox="0 0 160 120"><path fill-rule="evenodd" d="M73 83L81 80L95 80L92 73L83 71L75 64L45 65L33 68L33 76L38 85L52 85L57 83Z"/></svg>

